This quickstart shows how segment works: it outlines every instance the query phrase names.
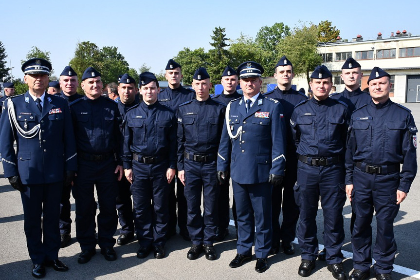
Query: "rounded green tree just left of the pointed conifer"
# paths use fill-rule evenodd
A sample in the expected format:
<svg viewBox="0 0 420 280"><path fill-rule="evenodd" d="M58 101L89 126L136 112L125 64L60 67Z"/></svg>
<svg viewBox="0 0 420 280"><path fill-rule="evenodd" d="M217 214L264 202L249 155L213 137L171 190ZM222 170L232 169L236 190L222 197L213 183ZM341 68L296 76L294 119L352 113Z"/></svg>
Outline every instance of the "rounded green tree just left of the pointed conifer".
<svg viewBox="0 0 420 280"><path fill-rule="evenodd" d="M208 55L203 48L191 51L190 48L183 48L174 57L174 60L182 66L183 83L191 84L193 76L199 67L207 67Z"/></svg>

